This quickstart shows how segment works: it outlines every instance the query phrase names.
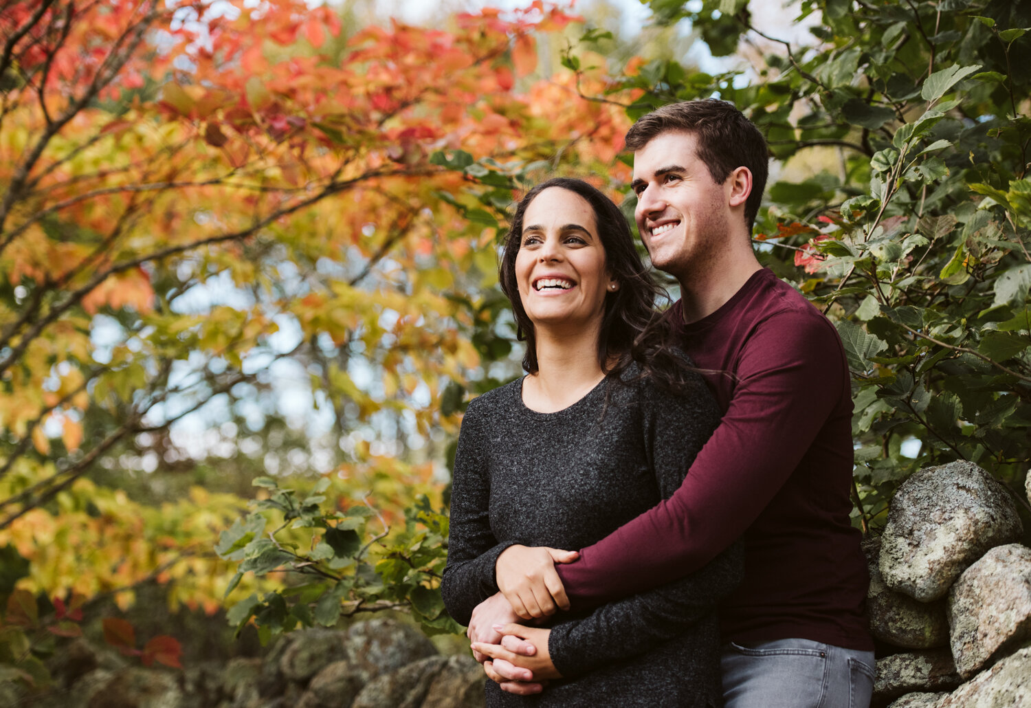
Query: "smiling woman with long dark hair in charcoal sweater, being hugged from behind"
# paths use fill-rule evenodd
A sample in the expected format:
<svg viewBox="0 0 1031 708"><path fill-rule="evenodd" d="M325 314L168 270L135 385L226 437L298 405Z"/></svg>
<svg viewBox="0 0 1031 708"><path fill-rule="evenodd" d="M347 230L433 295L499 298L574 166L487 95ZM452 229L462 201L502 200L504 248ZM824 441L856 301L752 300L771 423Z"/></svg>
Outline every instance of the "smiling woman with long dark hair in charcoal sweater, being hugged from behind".
<svg viewBox="0 0 1031 708"><path fill-rule="evenodd" d="M598 190L564 178L531 190L500 279L529 373L474 400L462 423L442 593L466 625L497 592L502 550L601 538L672 494L718 423L661 322L650 326L659 290ZM530 697L489 681L487 705L720 705L713 608L740 572L734 548L665 587L557 615L545 644L561 678Z"/></svg>

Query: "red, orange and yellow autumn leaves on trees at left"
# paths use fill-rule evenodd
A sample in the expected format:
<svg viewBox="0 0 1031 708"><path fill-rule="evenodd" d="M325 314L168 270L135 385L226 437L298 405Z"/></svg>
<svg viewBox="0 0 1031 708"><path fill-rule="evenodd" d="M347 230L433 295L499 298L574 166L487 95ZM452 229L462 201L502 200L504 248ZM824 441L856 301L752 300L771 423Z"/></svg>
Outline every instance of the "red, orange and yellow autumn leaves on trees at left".
<svg viewBox="0 0 1031 708"><path fill-rule="evenodd" d="M0 7L0 547L29 562L19 593L127 606L149 580L173 608L221 606L234 564L211 547L246 500L153 505L96 478L143 440L159 464L203 453L169 458L170 428L267 391L277 363L309 372L340 436L457 429L437 402L499 350L485 298L519 180L610 161L628 125L535 73L537 39L574 20L541 2L448 31L291 0ZM389 526L417 492L439 503L432 467L356 438L322 471Z"/></svg>

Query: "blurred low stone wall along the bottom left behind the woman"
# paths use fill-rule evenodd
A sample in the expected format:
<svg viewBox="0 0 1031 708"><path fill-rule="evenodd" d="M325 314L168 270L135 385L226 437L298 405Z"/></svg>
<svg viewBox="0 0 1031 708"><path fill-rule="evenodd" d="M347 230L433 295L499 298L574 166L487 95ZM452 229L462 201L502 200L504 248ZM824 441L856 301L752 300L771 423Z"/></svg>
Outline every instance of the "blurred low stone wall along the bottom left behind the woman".
<svg viewBox="0 0 1031 708"><path fill-rule="evenodd" d="M38 708L479 708L484 672L443 656L417 629L391 619L350 630L293 632L260 659L184 671L130 665L81 640L63 651L55 689Z"/></svg>

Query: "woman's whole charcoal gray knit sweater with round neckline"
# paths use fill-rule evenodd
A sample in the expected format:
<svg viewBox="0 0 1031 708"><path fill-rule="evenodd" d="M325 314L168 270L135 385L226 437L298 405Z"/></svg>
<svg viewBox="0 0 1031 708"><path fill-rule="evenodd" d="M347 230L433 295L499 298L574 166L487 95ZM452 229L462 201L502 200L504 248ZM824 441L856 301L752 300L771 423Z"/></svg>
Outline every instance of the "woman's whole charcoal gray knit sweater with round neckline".
<svg viewBox="0 0 1031 708"><path fill-rule="evenodd" d="M719 422L700 379L694 395L676 397L650 379L607 377L555 413L527 408L522 383L475 399L462 422L441 589L463 625L498 591L502 550L575 549L606 536L679 486ZM487 705L721 705L714 608L739 582L741 563L735 545L669 585L560 613L548 651L565 678L533 697L487 681Z"/></svg>

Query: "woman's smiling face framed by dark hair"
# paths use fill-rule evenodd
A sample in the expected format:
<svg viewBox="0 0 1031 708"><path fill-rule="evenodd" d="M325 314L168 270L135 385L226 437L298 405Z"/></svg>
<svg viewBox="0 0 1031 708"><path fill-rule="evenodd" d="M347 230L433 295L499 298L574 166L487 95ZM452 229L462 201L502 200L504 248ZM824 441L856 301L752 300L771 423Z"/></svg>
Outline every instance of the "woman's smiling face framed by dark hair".
<svg viewBox="0 0 1031 708"><path fill-rule="evenodd" d="M552 187L530 202L516 255L516 281L534 327L601 322L611 280L586 199Z"/></svg>

